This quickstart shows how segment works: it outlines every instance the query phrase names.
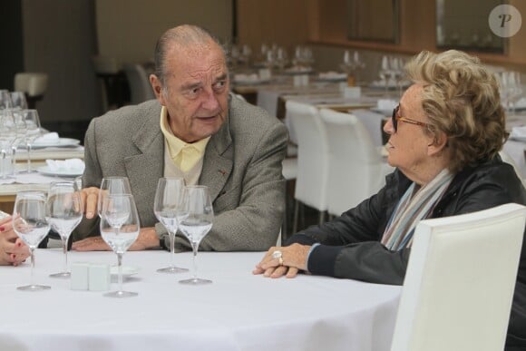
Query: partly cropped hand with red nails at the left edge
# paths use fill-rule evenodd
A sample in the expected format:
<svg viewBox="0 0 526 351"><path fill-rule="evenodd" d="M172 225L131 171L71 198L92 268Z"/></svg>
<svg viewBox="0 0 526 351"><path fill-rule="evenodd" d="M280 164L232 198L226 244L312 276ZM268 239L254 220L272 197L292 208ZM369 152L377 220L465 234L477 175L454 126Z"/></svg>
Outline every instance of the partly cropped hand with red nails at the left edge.
<svg viewBox="0 0 526 351"><path fill-rule="evenodd" d="M13 230L11 217L0 219L0 265L18 266L29 256L29 248Z"/></svg>

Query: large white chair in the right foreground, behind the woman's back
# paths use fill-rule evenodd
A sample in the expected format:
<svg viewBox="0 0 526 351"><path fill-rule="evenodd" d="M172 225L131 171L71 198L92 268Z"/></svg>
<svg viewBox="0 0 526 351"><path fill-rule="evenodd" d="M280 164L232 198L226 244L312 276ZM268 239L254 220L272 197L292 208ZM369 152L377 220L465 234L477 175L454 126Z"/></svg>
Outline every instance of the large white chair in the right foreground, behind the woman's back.
<svg viewBox="0 0 526 351"><path fill-rule="evenodd" d="M391 351L502 350L526 207L506 204L416 227Z"/></svg>

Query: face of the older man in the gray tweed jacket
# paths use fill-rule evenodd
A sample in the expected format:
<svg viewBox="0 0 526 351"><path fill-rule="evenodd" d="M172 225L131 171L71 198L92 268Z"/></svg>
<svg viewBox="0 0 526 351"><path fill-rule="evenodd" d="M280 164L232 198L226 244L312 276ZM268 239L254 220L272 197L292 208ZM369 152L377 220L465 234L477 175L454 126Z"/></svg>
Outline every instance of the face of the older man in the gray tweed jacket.
<svg viewBox="0 0 526 351"><path fill-rule="evenodd" d="M219 45L171 45L166 67L166 89L154 75L151 85L168 110L171 132L186 142L218 132L229 111L229 76Z"/></svg>

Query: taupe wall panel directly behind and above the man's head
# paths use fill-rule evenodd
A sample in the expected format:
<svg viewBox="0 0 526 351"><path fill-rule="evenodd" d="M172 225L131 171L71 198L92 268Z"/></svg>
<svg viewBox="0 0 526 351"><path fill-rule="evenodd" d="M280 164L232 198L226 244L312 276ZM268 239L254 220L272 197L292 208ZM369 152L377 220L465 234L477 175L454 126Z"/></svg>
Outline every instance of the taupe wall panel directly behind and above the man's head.
<svg viewBox="0 0 526 351"><path fill-rule="evenodd" d="M99 54L120 63L151 61L157 38L178 24L198 24L231 40L232 0L96 0Z"/></svg>

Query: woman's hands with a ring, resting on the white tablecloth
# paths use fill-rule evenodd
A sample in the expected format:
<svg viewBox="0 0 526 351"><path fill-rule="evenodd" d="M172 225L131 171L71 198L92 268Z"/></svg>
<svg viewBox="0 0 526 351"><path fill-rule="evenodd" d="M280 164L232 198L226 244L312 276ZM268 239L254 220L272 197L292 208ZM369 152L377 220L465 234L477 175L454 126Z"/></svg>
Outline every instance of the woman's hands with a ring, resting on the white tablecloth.
<svg viewBox="0 0 526 351"><path fill-rule="evenodd" d="M287 247L272 247L268 249L265 257L256 265L253 274L263 274L264 277L295 278L300 270L307 270L307 255L310 246L292 244ZM281 252L281 259L274 252Z"/></svg>

